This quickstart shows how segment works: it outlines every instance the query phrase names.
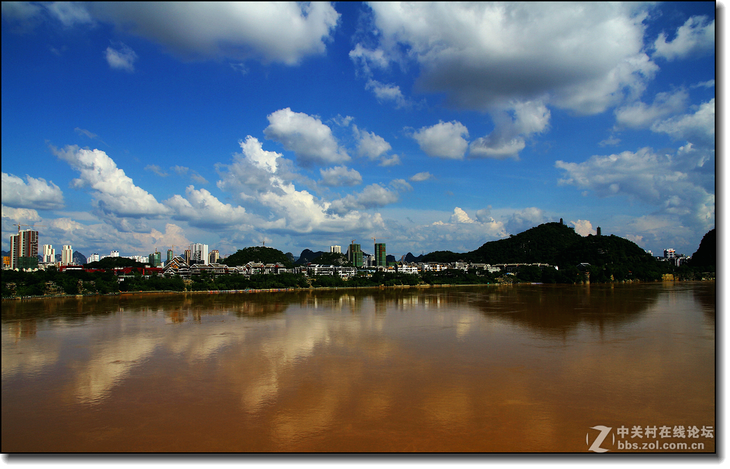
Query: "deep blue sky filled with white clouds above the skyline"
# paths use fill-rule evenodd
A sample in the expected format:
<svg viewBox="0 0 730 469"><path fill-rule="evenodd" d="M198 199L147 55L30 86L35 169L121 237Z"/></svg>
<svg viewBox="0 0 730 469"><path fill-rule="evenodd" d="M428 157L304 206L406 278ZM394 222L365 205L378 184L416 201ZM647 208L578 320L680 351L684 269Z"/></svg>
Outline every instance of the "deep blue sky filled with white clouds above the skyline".
<svg viewBox="0 0 730 469"><path fill-rule="evenodd" d="M713 2L3 2L1 47L2 249L715 228Z"/></svg>

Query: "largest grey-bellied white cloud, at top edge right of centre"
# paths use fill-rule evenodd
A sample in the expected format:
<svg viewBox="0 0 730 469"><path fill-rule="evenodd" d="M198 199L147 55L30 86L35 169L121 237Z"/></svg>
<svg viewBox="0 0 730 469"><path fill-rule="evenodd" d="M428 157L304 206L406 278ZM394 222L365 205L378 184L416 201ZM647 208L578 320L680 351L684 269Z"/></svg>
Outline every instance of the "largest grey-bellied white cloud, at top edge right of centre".
<svg viewBox="0 0 730 469"><path fill-rule="evenodd" d="M383 56L420 66L420 89L466 109L510 100L602 112L656 71L643 52L644 4L370 4ZM353 51L354 53L354 51ZM360 55L363 55L360 53ZM369 55L369 57L372 55ZM368 63L374 63L369 61Z"/></svg>

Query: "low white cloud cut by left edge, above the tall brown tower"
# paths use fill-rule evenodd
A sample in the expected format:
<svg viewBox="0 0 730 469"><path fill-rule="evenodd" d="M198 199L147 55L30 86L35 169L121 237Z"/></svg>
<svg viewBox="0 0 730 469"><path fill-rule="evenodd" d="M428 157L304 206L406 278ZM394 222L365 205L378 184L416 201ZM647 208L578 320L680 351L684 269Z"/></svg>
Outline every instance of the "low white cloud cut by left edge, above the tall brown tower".
<svg viewBox="0 0 730 469"><path fill-rule="evenodd" d="M15 209L55 210L64 206L64 193L43 178L26 174L26 181L14 174L2 173L2 204Z"/></svg>

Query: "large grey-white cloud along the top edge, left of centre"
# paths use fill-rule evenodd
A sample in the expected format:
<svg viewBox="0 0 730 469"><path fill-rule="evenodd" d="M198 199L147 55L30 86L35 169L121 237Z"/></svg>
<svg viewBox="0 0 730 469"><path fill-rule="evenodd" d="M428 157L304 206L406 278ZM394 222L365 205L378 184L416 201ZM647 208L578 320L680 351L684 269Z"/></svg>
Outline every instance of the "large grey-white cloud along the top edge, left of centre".
<svg viewBox="0 0 730 469"><path fill-rule="evenodd" d="M325 53L339 18L328 2L110 2L89 9L184 58L287 65Z"/></svg>

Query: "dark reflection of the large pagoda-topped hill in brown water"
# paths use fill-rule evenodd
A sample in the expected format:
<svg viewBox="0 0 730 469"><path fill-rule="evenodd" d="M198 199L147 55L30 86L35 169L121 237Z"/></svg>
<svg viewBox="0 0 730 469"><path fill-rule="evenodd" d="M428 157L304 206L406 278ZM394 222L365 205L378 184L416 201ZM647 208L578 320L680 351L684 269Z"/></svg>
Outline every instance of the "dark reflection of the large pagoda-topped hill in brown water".
<svg viewBox="0 0 730 469"><path fill-rule="evenodd" d="M473 302L488 317L529 327L546 336L564 336L587 325L603 330L635 322L658 300L656 287L506 287Z"/></svg>

